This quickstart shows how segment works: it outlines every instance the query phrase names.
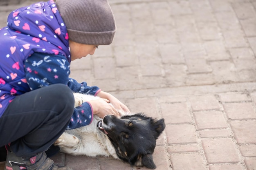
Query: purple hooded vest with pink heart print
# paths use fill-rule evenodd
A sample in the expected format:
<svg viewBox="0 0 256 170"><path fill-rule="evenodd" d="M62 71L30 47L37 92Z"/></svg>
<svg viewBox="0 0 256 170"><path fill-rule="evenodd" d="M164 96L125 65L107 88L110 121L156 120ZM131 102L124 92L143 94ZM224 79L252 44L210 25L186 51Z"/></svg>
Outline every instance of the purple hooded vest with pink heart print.
<svg viewBox="0 0 256 170"><path fill-rule="evenodd" d="M31 54L64 55L71 62L67 29L53 0L10 13L0 44L0 117L16 95L30 91L23 64Z"/></svg>

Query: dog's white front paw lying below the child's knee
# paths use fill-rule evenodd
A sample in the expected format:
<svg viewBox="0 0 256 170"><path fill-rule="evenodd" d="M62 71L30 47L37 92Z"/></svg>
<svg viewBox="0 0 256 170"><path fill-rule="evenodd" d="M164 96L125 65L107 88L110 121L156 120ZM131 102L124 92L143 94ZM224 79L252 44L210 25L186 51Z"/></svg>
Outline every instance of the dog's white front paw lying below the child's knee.
<svg viewBox="0 0 256 170"><path fill-rule="evenodd" d="M63 134L54 142L54 145L76 148L79 145L79 138L67 132L63 132Z"/></svg>

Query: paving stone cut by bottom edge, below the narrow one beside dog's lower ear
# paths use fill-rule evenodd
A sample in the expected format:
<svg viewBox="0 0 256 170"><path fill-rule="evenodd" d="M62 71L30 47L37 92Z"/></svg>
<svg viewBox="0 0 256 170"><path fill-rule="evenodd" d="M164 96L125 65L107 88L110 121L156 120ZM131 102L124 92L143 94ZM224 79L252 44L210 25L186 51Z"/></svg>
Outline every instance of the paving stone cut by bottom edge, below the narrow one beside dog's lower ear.
<svg viewBox="0 0 256 170"><path fill-rule="evenodd" d="M202 156L198 153L171 155L173 170L205 170Z"/></svg>

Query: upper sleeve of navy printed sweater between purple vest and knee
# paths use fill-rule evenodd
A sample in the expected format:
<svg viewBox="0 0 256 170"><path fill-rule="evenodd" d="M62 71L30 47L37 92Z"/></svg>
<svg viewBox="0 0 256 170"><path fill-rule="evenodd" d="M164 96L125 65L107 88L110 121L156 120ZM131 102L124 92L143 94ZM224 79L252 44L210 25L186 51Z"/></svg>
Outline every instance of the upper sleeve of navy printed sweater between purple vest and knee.
<svg viewBox="0 0 256 170"><path fill-rule="evenodd" d="M46 56L44 53L34 53L25 62L25 73L29 87L32 90L49 86L51 84L65 84L67 85L68 76L67 70L57 69L60 67L57 60L67 60L63 55L49 55L47 54L47 62L43 60ZM38 61L42 61L40 64ZM64 63L64 62L63 62ZM65 68L69 67L69 62L65 62Z"/></svg>

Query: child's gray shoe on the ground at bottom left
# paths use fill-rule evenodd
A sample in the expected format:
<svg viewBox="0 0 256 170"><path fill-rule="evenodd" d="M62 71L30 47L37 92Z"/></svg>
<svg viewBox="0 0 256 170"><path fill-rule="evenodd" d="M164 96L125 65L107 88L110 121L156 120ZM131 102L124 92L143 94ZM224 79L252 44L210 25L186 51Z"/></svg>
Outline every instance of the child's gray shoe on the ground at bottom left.
<svg viewBox="0 0 256 170"><path fill-rule="evenodd" d="M4 170L72 170L69 167L58 167L53 164L52 159L47 158L45 152L34 157L17 157L13 152L7 151Z"/></svg>

